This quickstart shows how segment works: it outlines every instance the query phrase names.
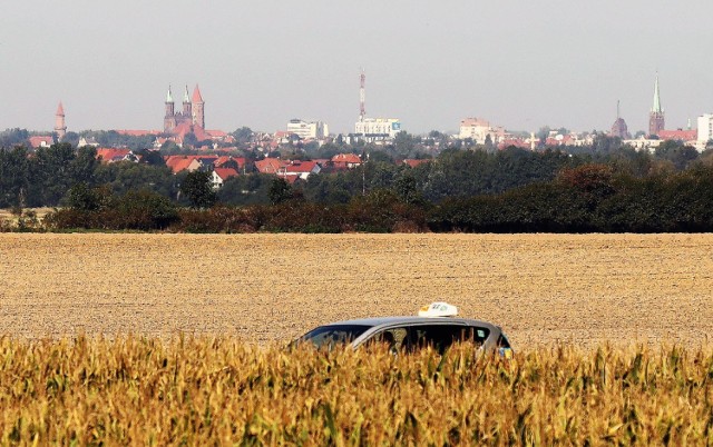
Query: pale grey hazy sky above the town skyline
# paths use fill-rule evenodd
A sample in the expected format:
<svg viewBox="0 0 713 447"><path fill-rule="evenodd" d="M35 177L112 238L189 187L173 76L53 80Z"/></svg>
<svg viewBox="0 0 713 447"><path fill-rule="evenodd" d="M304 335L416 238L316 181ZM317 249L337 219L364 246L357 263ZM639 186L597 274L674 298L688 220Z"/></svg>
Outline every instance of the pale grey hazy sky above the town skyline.
<svg viewBox="0 0 713 447"><path fill-rule="evenodd" d="M160 129L197 82L209 129L413 133L481 117L510 130L645 129L713 111L711 0L22 0L0 16L0 129ZM179 107L179 105L177 105Z"/></svg>

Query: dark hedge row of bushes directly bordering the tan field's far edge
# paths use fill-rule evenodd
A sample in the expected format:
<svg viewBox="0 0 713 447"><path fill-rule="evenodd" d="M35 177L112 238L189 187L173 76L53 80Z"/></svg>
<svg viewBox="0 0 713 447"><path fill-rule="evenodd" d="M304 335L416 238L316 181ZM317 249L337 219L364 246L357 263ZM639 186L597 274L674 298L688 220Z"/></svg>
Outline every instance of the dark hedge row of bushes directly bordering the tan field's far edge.
<svg viewBox="0 0 713 447"><path fill-rule="evenodd" d="M199 176L189 179L199 180ZM309 201L274 179L270 205L198 207L201 182L184 191L195 207L156 192L115 196L76 186L69 206L50 212L49 230L167 230L177 232L701 232L713 231L713 167L635 177L588 163L555 179L497 195L412 200L407 189L383 188L346 203ZM204 190L205 191L205 190Z"/></svg>

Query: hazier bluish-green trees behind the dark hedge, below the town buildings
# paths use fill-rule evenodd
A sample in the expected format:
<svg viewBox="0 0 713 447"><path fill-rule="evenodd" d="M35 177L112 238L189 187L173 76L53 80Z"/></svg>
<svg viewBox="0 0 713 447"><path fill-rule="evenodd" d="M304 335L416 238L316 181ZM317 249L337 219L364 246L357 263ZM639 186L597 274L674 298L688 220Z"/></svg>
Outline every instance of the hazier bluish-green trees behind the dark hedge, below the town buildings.
<svg viewBox="0 0 713 447"><path fill-rule="evenodd" d="M394 189L412 202L438 203L549 181L563 169L585 163L604 163L616 172L645 178L713 160L711 151L700 155L674 141L662 143L654 153L614 148L606 141L598 141L596 151L577 153L514 147L495 152L447 149L431 162L416 168L395 163L383 151L371 151L367 152L368 162L356 169L313 175L291 188L310 202L325 205L349 203L358 196L381 189ZM61 206L77 183L108 187L119 196L130 190L148 190L188 205L187 197L180 193L185 172L174 176L156 151L145 151L141 160L104 165L96 159L94 148L74 148L69 143L35 151L21 146L0 149L0 208ZM274 177L260 173L234 177L217 192L216 200L226 205L270 203L273 180Z"/></svg>

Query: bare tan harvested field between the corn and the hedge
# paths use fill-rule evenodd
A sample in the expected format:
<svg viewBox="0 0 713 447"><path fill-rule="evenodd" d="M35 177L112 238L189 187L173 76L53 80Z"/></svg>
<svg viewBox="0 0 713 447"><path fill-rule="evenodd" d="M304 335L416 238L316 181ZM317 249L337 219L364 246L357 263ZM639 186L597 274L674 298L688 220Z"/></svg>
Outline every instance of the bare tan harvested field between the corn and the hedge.
<svg viewBox="0 0 713 447"><path fill-rule="evenodd" d="M709 342L713 235L0 234L0 332L289 340L434 300L515 347Z"/></svg>

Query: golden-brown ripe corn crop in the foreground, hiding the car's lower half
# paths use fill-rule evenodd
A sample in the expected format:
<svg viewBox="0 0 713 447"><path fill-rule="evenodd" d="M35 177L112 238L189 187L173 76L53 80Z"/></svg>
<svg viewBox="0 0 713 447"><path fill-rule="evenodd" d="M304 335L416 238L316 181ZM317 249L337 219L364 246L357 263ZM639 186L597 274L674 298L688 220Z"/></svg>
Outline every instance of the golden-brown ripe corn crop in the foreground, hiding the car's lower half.
<svg viewBox="0 0 713 447"><path fill-rule="evenodd" d="M0 444L711 445L713 354L0 339Z"/></svg>

